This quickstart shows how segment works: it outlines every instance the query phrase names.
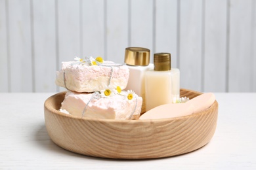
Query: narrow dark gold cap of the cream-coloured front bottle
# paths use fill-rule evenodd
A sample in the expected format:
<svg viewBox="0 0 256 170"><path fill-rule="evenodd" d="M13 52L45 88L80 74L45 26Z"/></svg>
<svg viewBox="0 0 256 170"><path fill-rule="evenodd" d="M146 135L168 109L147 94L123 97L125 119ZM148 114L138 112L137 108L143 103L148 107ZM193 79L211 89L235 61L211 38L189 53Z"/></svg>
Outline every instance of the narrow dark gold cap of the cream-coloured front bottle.
<svg viewBox="0 0 256 170"><path fill-rule="evenodd" d="M154 54L154 70L171 70L171 54L165 52Z"/></svg>

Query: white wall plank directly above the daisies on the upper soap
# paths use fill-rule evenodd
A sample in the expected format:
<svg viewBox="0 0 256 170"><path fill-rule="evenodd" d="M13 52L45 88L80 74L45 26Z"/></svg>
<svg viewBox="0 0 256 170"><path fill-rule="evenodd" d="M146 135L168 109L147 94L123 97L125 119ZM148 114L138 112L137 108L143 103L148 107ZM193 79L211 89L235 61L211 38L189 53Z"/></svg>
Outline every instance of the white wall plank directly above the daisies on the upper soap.
<svg viewBox="0 0 256 170"><path fill-rule="evenodd" d="M104 54L104 1L82 1L83 56Z"/></svg>

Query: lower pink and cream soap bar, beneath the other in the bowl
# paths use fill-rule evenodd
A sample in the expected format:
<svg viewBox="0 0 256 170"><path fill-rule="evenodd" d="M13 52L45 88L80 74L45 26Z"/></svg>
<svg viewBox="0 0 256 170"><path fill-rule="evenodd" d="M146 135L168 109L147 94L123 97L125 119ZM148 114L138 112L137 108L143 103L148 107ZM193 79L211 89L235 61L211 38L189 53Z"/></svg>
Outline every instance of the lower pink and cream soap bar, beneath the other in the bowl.
<svg viewBox="0 0 256 170"><path fill-rule="evenodd" d="M128 101L123 95L111 97L92 97L95 93L76 93L68 91L62 102L61 111L76 116L103 119L139 119L142 97L137 94ZM88 105L87 105L88 103ZM86 108L85 108L86 107Z"/></svg>

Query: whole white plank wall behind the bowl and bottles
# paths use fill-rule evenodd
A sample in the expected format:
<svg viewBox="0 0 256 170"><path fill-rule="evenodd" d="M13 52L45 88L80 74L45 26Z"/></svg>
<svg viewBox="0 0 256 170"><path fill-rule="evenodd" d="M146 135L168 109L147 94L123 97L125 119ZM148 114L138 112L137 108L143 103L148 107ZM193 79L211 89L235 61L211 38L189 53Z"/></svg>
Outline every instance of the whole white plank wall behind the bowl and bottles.
<svg viewBox="0 0 256 170"><path fill-rule="evenodd" d="M181 87L256 92L255 0L0 0L0 92L58 92L74 56L170 52Z"/></svg>

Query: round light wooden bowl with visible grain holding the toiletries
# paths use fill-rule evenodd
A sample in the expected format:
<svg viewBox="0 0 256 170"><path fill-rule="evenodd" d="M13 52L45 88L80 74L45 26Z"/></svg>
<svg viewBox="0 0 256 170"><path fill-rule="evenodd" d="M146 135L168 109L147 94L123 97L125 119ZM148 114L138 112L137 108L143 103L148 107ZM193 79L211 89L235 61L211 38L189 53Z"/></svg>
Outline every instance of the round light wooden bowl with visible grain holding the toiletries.
<svg viewBox="0 0 256 170"><path fill-rule="evenodd" d="M45 126L54 143L87 156L147 159L184 154L207 144L217 126L217 101L179 118L96 120L59 112L64 95L56 93L45 101ZM181 95L193 98L200 92L181 90Z"/></svg>

